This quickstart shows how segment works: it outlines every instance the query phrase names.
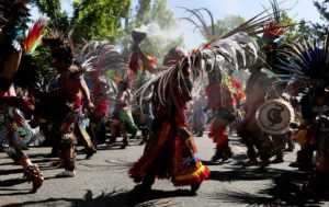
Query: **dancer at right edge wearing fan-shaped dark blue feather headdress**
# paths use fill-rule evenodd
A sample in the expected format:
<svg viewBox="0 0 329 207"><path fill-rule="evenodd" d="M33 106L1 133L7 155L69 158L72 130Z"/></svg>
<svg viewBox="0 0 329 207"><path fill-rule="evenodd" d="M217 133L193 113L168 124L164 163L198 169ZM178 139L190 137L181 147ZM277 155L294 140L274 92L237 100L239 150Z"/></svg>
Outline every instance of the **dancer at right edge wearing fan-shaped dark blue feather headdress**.
<svg viewBox="0 0 329 207"><path fill-rule="evenodd" d="M299 43L286 43L277 47L280 55L272 67L279 77L284 77L296 83L303 82L309 92L302 99L302 116L305 120L300 129L308 130L307 146L317 148L316 172L310 179L307 189L321 192L329 183L329 34L324 38L304 39ZM302 148L302 149L303 149ZM313 151L308 148L308 158Z"/></svg>

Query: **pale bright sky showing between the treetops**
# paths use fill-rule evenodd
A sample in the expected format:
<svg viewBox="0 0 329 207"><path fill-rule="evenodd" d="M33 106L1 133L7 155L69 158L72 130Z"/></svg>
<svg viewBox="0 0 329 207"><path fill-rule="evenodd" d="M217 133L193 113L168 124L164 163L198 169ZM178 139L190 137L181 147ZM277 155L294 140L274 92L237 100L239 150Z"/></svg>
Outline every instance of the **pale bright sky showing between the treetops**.
<svg viewBox="0 0 329 207"><path fill-rule="evenodd" d="M69 14L72 12L71 0L61 0L63 9ZM178 7L189 9L207 8L215 20L224 19L225 15L235 14L246 20L263 11L263 7L270 7L270 0L167 0L167 5L174 13L177 19L184 16L184 11ZM321 22L320 15L314 7L314 0L277 0L282 2L280 8L287 9L287 13L294 20L306 20L310 22ZM137 5L137 0L133 0L132 8ZM36 12L34 12L36 14ZM177 35L184 37L184 46L190 49L204 43L197 32L193 32L193 26L188 22L180 22L175 30Z"/></svg>

